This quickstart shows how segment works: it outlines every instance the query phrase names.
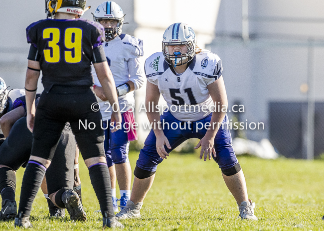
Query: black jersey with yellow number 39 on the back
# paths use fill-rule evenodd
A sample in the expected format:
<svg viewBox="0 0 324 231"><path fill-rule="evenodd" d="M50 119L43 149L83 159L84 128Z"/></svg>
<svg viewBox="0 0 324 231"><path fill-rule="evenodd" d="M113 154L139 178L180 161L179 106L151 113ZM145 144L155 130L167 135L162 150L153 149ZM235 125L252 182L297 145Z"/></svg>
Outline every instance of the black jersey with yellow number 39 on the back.
<svg viewBox="0 0 324 231"><path fill-rule="evenodd" d="M91 86L91 62L107 60L104 27L95 21L44 19L30 24L26 34L28 59L39 61L44 85Z"/></svg>

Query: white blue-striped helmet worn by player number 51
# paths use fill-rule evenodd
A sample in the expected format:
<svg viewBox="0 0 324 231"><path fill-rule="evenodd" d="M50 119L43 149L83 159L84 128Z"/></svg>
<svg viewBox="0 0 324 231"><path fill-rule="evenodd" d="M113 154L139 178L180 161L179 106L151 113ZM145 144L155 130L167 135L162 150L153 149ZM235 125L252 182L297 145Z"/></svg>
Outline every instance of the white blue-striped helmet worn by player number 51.
<svg viewBox="0 0 324 231"><path fill-rule="evenodd" d="M168 46L172 45L185 45L188 51L185 54L174 52L169 54ZM195 55L196 49L196 34L193 29L185 23L174 23L167 27L163 34L162 52L165 61L173 65L183 65L189 62Z"/></svg>

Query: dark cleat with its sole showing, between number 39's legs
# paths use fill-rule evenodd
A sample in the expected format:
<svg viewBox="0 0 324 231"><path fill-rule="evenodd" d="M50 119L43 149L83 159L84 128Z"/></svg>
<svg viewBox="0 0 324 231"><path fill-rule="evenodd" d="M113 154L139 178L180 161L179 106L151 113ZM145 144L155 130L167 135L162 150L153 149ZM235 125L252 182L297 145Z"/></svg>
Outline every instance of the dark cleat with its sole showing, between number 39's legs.
<svg viewBox="0 0 324 231"><path fill-rule="evenodd" d="M78 194L72 190L66 191L64 194L62 199L64 199L65 208L70 215L70 219L72 221L87 221L87 215L83 210Z"/></svg>

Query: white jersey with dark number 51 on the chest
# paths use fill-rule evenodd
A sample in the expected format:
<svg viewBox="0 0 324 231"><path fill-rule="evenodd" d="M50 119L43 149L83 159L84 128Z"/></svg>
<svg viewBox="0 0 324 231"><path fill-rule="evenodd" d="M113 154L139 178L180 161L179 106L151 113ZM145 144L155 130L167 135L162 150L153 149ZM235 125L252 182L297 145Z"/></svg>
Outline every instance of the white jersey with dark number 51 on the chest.
<svg viewBox="0 0 324 231"><path fill-rule="evenodd" d="M145 61L148 81L159 86L171 114L181 121L197 121L214 110L207 86L222 75L220 58L208 50L196 54L182 74L164 61L163 53Z"/></svg>

